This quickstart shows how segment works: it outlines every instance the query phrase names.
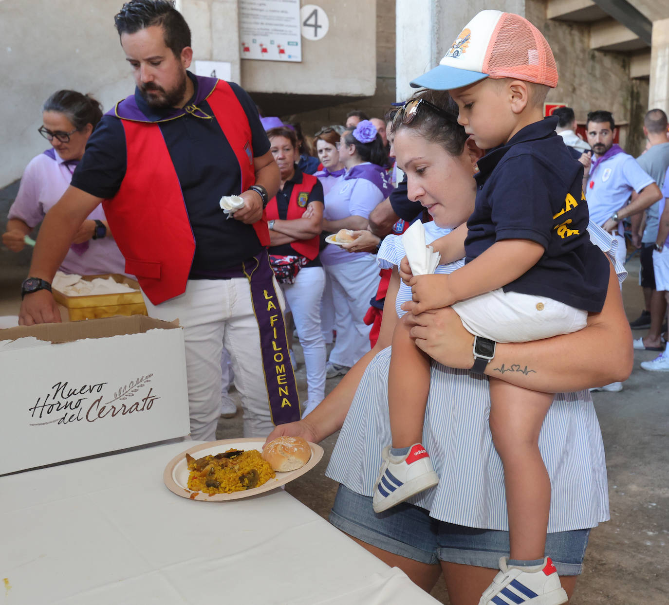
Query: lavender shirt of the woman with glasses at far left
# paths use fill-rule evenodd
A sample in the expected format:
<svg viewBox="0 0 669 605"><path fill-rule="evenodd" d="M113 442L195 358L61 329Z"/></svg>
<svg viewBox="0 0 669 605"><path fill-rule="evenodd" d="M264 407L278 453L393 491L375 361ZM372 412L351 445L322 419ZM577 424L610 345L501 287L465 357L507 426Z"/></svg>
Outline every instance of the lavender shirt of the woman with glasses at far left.
<svg viewBox="0 0 669 605"><path fill-rule="evenodd" d="M19 219L31 228L41 223L46 213L68 189L72 180L70 170L71 166L65 165L57 153L41 153L30 160L7 219ZM102 206L96 207L86 218L104 221ZM81 255L70 249L60 270L79 275L123 273L125 259L113 239L91 239L88 241L88 249Z"/></svg>

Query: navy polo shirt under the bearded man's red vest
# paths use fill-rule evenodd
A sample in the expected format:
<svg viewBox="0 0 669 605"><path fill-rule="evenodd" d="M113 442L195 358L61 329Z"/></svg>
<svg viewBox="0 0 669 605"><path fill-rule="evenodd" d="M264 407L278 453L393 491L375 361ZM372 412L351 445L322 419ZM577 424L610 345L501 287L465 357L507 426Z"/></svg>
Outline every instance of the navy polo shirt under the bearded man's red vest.
<svg viewBox="0 0 669 605"><path fill-rule="evenodd" d="M197 79L187 72L195 86ZM270 141L260 123L250 96L237 84L229 83L242 104L252 131L254 157L270 150ZM138 108L151 121L161 120L167 112L149 107L135 90ZM213 116L206 100L197 104ZM170 110L167 110L168 112ZM209 120L185 114L159 122L172 158L185 201L193 235L195 256L189 279L216 279L221 269L236 267L262 250L252 225L227 220L219 200L224 195L239 195L242 189L240 166L230 144L215 118ZM147 158L150 162L151 158ZM116 195L126 172L126 138L122 122L115 116L102 117L86 144L86 152L72 176L72 185L95 197L110 199ZM113 203L113 202L112 202ZM137 203L141 203L138 200ZM153 225L147 225L147 230Z"/></svg>

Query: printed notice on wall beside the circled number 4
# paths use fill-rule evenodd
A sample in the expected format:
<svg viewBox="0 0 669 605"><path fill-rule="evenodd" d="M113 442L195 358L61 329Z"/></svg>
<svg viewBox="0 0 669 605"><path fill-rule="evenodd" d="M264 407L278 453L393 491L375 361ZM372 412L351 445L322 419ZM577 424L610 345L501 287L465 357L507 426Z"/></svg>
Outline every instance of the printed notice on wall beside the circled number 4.
<svg viewBox="0 0 669 605"><path fill-rule="evenodd" d="M302 61L300 0L239 0L240 57Z"/></svg>

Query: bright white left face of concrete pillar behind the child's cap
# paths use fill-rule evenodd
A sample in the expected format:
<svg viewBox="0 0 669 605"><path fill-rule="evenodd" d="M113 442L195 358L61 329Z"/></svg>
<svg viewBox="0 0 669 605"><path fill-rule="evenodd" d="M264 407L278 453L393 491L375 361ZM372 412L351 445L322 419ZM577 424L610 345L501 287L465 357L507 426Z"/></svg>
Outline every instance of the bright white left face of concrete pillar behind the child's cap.
<svg viewBox="0 0 669 605"><path fill-rule="evenodd" d="M409 82L434 68L437 56L438 2L397 0L395 3L395 90L404 101L414 91Z"/></svg>

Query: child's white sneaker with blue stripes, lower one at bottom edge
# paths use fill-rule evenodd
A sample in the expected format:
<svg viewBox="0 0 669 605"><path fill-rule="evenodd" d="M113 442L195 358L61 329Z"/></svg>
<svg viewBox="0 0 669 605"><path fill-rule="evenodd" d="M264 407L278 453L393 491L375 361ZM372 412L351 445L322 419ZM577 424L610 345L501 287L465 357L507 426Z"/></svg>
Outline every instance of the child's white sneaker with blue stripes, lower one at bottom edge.
<svg viewBox="0 0 669 605"><path fill-rule="evenodd" d="M502 557L500 570L478 605L561 605L568 601L550 557L532 567L507 567Z"/></svg>

